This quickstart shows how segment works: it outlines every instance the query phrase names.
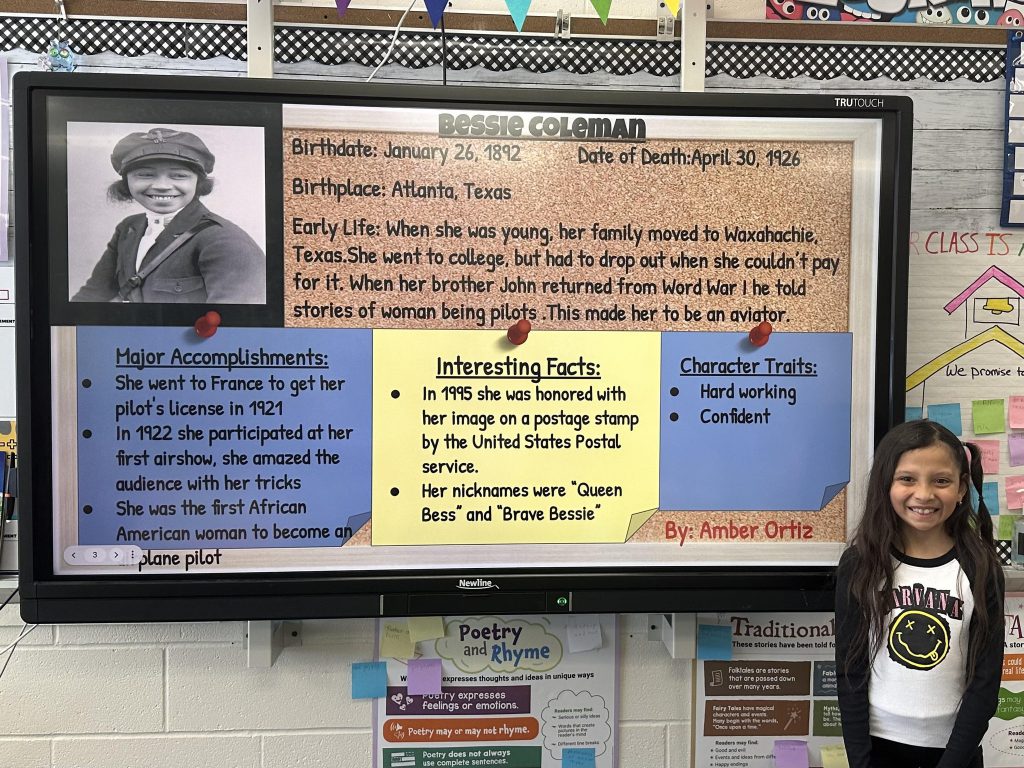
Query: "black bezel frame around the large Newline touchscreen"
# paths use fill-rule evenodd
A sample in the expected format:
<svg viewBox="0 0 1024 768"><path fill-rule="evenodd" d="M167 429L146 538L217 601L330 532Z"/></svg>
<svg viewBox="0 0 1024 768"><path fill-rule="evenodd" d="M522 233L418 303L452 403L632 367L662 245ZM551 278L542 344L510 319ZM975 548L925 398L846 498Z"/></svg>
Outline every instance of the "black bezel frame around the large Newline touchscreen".
<svg viewBox="0 0 1024 768"><path fill-rule="evenodd" d="M55 300L48 254L52 214L47 126L53 98L186 99L209 105L315 103L460 110L554 110L678 116L871 119L882 125L879 265L874 317L876 440L904 412L906 287L912 106L906 97L627 93L435 86L344 85L226 78L23 73L14 79L14 195L17 416L22 484L22 612L34 623L265 620L431 615L487 611L680 612L829 610L833 567L531 568L57 577L52 569L50 327L67 319ZM279 113L280 126L280 113ZM268 142L269 144L269 142ZM279 147L280 150L280 147ZM272 152L268 150L272 155ZM267 158L268 161L273 158ZM281 167L268 163L268 167ZM279 193L281 186L278 187ZM59 196L58 196L59 197ZM268 196L282 210L281 195ZM25 223L27 222L27 223ZM268 238L269 238L268 228ZM279 233L280 240L280 233ZM269 244L268 244L269 246ZM269 254L269 247L268 247ZM268 259L268 262L272 259ZM280 284L280 281L279 281ZM268 304L270 303L268 297ZM67 302L63 302L65 305ZM280 302L279 302L280 305ZM187 311L187 310L185 310ZM190 323L190 315L144 314L141 325ZM88 313L86 313L88 314ZM194 314L194 312L193 312ZM98 322L84 317L81 322ZM266 322L254 312L252 325ZM39 500L38 505L36 500ZM38 506L38 510L37 510ZM460 591L461 580L496 589Z"/></svg>

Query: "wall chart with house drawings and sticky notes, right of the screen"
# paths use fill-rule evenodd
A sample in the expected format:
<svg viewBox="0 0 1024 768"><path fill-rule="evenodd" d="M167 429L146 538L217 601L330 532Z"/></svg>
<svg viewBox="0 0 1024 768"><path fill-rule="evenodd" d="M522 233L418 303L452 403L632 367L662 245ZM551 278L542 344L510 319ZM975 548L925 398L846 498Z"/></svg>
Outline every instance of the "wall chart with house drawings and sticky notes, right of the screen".
<svg viewBox="0 0 1024 768"><path fill-rule="evenodd" d="M1019 230L910 232L906 418L941 422L981 450L1008 562L1024 506L1022 254Z"/></svg>

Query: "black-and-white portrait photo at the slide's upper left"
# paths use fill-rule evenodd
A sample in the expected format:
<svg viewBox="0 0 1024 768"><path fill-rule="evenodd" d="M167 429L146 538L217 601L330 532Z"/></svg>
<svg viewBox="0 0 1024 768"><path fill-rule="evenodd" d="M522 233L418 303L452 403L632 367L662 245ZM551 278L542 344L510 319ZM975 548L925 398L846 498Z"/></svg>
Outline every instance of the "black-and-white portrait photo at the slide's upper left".
<svg viewBox="0 0 1024 768"><path fill-rule="evenodd" d="M264 129L68 123L73 302L263 304Z"/></svg>

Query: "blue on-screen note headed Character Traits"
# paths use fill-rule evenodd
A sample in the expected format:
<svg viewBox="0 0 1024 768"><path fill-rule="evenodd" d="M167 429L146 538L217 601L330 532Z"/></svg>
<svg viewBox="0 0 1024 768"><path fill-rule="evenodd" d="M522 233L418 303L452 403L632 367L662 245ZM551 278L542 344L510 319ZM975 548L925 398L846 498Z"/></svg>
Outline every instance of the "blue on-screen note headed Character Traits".
<svg viewBox="0 0 1024 768"><path fill-rule="evenodd" d="M824 507L850 480L852 344L663 334L660 508Z"/></svg>

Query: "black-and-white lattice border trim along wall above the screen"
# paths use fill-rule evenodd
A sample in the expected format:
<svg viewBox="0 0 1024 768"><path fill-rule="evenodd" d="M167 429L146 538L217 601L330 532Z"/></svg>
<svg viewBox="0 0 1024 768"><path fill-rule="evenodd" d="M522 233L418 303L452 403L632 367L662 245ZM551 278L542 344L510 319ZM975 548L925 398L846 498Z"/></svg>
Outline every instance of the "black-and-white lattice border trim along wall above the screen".
<svg viewBox="0 0 1024 768"><path fill-rule="evenodd" d="M123 56L246 59L244 24L77 18L65 25L49 16L0 16L0 50L20 48L42 53L50 41L58 38L67 38L76 52L85 55L112 52ZM386 30L276 25L274 60L376 67L390 40L391 33ZM993 82L1004 75L1004 55L1001 47L709 41L706 76L778 80L848 77L861 81L888 78L899 82L963 78ZM680 71L676 42L449 33L442 45L441 35L432 31L400 34L389 60L413 70L444 65L452 71L480 67L490 72L565 70L573 74L646 73L657 77L675 77Z"/></svg>

